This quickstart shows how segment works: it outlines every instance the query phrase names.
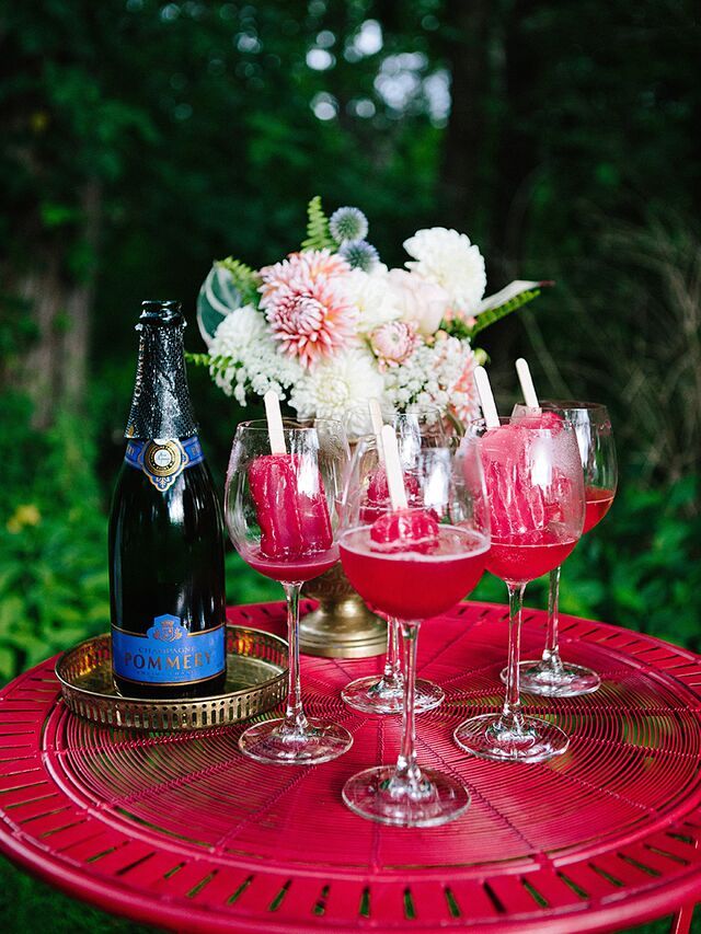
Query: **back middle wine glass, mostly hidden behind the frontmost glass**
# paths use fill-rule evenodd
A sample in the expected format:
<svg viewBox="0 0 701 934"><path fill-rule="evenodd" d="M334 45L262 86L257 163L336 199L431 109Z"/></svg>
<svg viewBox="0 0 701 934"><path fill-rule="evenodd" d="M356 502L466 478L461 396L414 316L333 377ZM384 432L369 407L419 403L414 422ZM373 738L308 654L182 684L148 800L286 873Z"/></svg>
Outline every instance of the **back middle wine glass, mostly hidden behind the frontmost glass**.
<svg viewBox="0 0 701 934"><path fill-rule="evenodd" d="M354 413L355 416L355 413ZM356 424L358 417L355 416ZM443 427L443 416L437 405L410 405L404 412L395 413L392 424L397 431L400 460L405 471L412 471L412 465L422 447L439 447L446 445L446 434ZM380 446L365 448L367 461L364 471L381 471ZM389 505L389 491L386 483L378 485L370 483L370 493L377 499L378 495L384 506ZM371 503L366 503L367 509ZM377 503L375 504L377 506ZM376 608L377 609L377 608ZM382 614L384 615L384 614ZM384 656L384 668L380 678L369 674L366 678L356 678L342 690L341 696L356 711L365 714L401 714L404 706L404 676L402 674L402 658L400 652L399 622L393 616L387 616L387 652ZM427 681L424 678L416 680L415 685L415 710L417 714L432 711L443 703L445 692L439 684Z"/></svg>

